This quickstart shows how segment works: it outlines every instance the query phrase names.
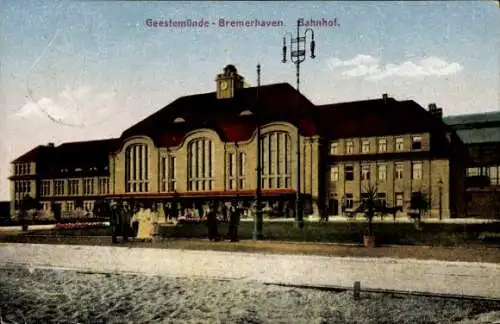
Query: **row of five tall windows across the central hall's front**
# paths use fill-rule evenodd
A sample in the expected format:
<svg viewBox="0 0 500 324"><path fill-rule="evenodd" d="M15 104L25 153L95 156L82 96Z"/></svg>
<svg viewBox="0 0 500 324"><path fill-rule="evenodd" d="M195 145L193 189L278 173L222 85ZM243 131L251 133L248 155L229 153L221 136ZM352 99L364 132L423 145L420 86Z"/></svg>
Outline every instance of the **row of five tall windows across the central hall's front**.
<svg viewBox="0 0 500 324"><path fill-rule="evenodd" d="M291 186L291 139L286 132L273 132L262 136L262 185L263 188L289 188ZM188 191L211 191L214 185L214 146L207 138L198 138L187 148ZM246 187L246 155L242 152L226 156L227 181L230 190ZM125 191L148 192L148 147L133 144L125 151ZM176 159L174 156L160 160L161 191L175 191Z"/></svg>

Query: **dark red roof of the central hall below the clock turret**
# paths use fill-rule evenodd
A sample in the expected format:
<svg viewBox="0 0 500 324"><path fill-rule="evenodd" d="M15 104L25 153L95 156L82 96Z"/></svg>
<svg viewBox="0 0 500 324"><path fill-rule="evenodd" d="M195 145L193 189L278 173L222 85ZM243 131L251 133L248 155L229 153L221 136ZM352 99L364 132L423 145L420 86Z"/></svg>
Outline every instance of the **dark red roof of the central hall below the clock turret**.
<svg viewBox="0 0 500 324"><path fill-rule="evenodd" d="M300 100L299 109L297 98ZM264 85L259 88L236 89L234 97L227 99L217 99L215 92L209 92L174 100L156 113L125 130L121 135L121 139L146 135L151 137L157 145L162 145L161 142L173 144L178 141L165 139L173 136L170 134L176 134L175 138L178 139L179 136L182 137L182 134L190 130L211 128L217 131L224 141L244 140L249 136L248 132L235 135L232 131L226 131L228 128L232 128L227 126L227 121L244 123L243 129L252 129L253 132L255 122L253 122L253 126L248 125L248 123L252 124L250 122L252 118L249 118L250 116L240 116L240 113L245 110L255 113L257 108L264 120L283 120L294 124L301 118L310 118L310 115L315 110L315 106L305 96L299 94L299 97L297 97L297 91L288 83ZM185 122L175 123L174 121L178 118L184 119ZM314 130L302 130L302 132L306 133L311 131Z"/></svg>

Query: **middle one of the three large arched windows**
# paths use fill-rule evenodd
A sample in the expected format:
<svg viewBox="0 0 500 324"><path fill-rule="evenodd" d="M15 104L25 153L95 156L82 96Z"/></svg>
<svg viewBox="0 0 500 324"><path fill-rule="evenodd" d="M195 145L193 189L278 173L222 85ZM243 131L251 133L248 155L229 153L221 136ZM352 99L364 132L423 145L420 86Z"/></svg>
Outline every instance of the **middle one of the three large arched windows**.
<svg viewBox="0 0 500 324"><path fill-rule="evenodd" d="M188 144L188 190L210 191L213 188L213 145L208 138Z"/></svg>

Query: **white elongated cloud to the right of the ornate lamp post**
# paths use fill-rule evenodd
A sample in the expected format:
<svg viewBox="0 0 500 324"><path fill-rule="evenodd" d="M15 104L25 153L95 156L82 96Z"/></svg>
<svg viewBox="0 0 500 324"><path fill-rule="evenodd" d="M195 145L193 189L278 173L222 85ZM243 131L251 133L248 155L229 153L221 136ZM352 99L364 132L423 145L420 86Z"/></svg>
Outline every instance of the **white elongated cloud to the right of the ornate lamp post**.
<svg viewBox="0 0 500 324"><path fill-rule="evenodd" d="M330 70L342 69L346 78L364 77L376 81L388 77L417 78L425 76L446 76L459 73L463 67L459 63L448 63L437 57L428 57L417 62L406 61L400 64L380 64L380 59L364 54L341 60L332 58L328 61Z"/></svg>

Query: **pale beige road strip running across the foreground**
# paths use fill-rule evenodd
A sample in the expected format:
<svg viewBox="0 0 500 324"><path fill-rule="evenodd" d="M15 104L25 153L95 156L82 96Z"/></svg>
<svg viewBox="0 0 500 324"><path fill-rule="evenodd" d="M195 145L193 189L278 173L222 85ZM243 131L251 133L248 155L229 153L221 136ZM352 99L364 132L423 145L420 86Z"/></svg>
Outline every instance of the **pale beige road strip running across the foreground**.
<svg viewBox="0 0 500 324"><path fill-rule="evenodd" d="M500 300L500 264L175 249L0 244L0 265L130 272Z"/></svg>

